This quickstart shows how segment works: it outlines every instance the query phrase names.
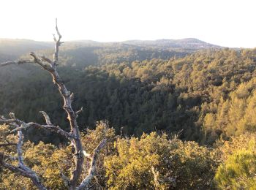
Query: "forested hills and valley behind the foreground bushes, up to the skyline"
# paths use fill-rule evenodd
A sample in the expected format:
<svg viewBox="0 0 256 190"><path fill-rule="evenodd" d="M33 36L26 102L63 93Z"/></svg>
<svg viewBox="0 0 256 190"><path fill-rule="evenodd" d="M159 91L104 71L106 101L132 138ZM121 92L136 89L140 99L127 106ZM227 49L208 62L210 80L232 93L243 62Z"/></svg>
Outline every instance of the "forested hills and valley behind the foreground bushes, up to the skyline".
<svg viewBox="0 0 256 190"><path fill-rule="evenodd" d="M34 43L34 50L52 54L50 43L41 48ZM1 61L24 54L15 45L2 49L0 43ZM197 39L80 41L67 42L60 56L59 74L75 93L74 107L84 107L78 118L81 130L108 120L126 135L183 130L182 139L205 144L255 132L256 50L224 49ZM43 122L39 111L44 110L52 123L67 126L58 91L38 66L1 68L0 94L0 113ZM26 138L59 142L45 133L29 129Z"/></svg>

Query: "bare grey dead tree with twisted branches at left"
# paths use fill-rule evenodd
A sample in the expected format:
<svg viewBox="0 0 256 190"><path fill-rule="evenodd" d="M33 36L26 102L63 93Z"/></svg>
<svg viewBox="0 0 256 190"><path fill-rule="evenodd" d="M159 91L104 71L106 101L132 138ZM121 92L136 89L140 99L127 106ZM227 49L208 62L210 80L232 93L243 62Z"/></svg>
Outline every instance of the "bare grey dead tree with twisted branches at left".
<svg viewBox="0 0 256 190"><path fill-rule="evenodd" d="M46 189L45 186L42 183L42 179L39 178L39 175L37 175L36 172L31 170L29 167L26 166L23 162L23 153L22 153L22 145L23 145L23 129L26 129L28 127L37 127L41 129L47 129L51 132L56 132L61 134L63 137L67 138L69 140L73 147L75 148L74 153L74 160L75 160L75 170L72 171L71 178L65 177L69 189L88 189L88 185L91 182L91 179L94 178L94 175L96 173L96 161L99 155L99 151L104 147L105 143L107 142L106 139L102 140L102 142L97 145L97 148L94 149L94 153L89 155L86 153L86 151L83 151L83 146L80 140L80 132L78 128L77 118L78 114L83 110L75 111L72 108L72 100L74 97L74 94L67 90L66 86L63 83L63 80L61 80L61 77L59 77L59 73L57 72L57 65L59 61L59 46L63 42L61 42L61 34L59 32L57 19L56 19L56 33L58 37L53 34L53 39L55 42L55 51L53 54L53 60L50 60L50 58L46 58L45 56L37 56L35 53L31 52L30 56L31 59L29 60L19 60L19 61L8 61L5 63L0 64L1 66L8 66L11 64L31 64L36 63L39 66L41 66L43 69L45 69L47 72L50 73L50 75L53 77L53 83L58 87L59 93L64 100L63 109L67 113L67 119L69 120L69 126L70 126L70 132L65 132L63 129L61 129L59 126L54 126L50 122L50 117L47 113L44 111L41 111L42 115L45 118L46 124L39 124L39 123L26 123L24 121L20 121L18 118L15 117L14 113L10 113L10 118L4 118L4 116L0 117L0 123L6 123L9 126L15 127L12 132L17 132L18 137L18 143L11 143L7 142L6 145L17 145L17 153L18 153L18 166L8 164L5 160L6 158L10 156L5 156L4 153L0 153L0 164L3 167L6 167L7 169L11 170L12 172L16 172L19 175L23 175L26 178L30 178L34 185L37 186L38 189ZM0 144L1 145L1 144ZM84 153L84 154L83 154ZM86 178L83 179L83 181L78 185L78 180L80 178L80 175L83 170L83 162L84 157L88 156L91 159L91 165L89 168L88 175Z"/></svg>

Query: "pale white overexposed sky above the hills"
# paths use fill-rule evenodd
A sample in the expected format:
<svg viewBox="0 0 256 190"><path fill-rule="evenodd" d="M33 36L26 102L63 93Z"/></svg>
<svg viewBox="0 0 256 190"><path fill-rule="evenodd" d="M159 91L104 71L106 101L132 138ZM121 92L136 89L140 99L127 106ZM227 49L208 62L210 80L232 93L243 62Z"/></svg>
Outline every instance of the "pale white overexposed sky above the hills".
<svg viewBox="0 0 256 190"><path fill-rule="evenodd" d="M63 41L197 38L256 47L255 0L1 0L0 38Z"/></svg>

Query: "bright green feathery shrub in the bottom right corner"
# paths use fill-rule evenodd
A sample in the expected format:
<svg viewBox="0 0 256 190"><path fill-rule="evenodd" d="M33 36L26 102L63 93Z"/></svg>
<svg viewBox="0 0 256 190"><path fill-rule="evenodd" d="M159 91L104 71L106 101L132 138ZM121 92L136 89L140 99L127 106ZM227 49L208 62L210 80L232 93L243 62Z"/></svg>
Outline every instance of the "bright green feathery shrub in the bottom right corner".
<svg viewBox="0 0 256 190"><path fill-rule="evenodd" d="M256 134L245 133L230 141L219 140L222 164L215 175L219 189L255 189Z"/></svg>

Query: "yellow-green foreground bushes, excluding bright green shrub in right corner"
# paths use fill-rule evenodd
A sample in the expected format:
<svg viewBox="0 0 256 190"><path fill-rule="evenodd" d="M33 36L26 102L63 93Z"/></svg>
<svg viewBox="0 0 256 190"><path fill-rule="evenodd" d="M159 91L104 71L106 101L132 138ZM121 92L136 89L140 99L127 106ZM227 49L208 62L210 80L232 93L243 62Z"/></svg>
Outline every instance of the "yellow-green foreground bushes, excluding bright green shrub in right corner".
<svg viewBox="0 0 256 190"><path fill-rule="evenodd" d="M1 133L7 131L1 126ZM6 135L12 139L12 135ZM92 153L97 144L107 137L108 143L99 154L97 175L92 189L208 189L219 164L217 151L182 142L176 137L168 140L166 134L143 134L140 139L115 136L108 123L98 122L95 130L81 134L83 147ZM15 149L5 150L15 156ZM67 189L61 178L72 172L72 147L39 142L26 142L24 161L42 178L48 189ZM89 159L86 159L89 169ZM9 162L9 161L8 161ZM17 164L17 161L10 161ZM83 172L80 180L86 176ZM35 189L31 180L1 168L0 189Z"/></svg>

